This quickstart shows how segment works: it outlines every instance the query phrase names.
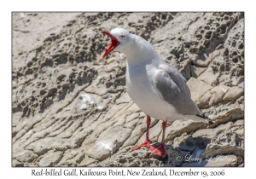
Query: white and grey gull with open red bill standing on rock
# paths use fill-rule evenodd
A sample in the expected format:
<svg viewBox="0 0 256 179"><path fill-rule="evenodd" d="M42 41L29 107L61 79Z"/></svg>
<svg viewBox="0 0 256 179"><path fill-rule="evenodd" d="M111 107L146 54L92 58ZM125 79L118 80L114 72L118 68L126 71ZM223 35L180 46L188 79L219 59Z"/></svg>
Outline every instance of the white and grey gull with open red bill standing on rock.
<svg viewBox="0 0 256 179"><path fill-rule="evenodd" d="M166 156L165 133L167 122L177 119L192 119L207 123L200 118L201 111L191 99L186 79L178 70L166 63L145 39L123 28L103 31L111 39L107 51L119 51L126 55L126 90L131 100L147 115L146 140L133 148L147 147L150 157ZM196 116L197 115L197 116ZM148 137L151 118L162 120L162 141L150 146Z"/></svg>

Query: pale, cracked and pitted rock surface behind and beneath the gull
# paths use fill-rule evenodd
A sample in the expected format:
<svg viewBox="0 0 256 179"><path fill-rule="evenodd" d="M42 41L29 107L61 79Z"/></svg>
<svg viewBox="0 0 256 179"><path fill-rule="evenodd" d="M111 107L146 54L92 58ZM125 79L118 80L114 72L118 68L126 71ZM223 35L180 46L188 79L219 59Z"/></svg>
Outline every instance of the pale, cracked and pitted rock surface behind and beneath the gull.
<svg viewBox="0 0 256 179"><path fill-rule="evenodd" d="M13 13L13 166L243 166L243 13ZM125 55L103 30L152 43L188 80L209 125L175 121L149 158L146 116L125 91ZM153 118L149 138L161 139Z"/></svg>

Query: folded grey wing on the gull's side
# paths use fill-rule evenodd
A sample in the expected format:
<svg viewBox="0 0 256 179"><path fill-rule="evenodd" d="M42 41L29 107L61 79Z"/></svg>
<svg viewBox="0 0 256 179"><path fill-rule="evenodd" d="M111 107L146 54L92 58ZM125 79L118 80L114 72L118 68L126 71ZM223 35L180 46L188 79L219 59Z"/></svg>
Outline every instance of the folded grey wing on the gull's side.
<svg viewBox="0 0 256 179"><path fill-rule="evenodd" d="M201 114L192 101L186 79L173 66L160 65L153 78L155 90L160 97L183 115Z"/></svg>

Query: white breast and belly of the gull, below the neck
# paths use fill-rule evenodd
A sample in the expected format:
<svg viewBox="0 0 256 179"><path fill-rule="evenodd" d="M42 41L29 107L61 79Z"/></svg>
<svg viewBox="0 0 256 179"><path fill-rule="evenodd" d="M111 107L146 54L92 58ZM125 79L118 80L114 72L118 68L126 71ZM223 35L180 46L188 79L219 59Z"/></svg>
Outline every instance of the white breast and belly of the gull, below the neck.
<svg viewBox="0 0 256 179"><path fill-rule="evenodd" d="M126 89L131 100L150 117L167 121L181 118L171 104L160 99L150 82L150 73L154 73L157 68L152 67L152 64L145 66L140 69L134 66L131 68L128 64L126 66Z"/></svg>

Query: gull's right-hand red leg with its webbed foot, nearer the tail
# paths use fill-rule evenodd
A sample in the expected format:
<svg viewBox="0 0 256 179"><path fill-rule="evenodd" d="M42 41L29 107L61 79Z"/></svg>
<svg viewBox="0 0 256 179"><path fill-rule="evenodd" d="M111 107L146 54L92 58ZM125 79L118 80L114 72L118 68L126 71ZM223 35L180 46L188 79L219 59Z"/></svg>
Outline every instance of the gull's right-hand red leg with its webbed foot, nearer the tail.
<svg viewBox="0 0 256 179"><path fill-rule="evenodd" d="M167 125L167 121L163 121L163 123L162 123L162 129L163 129L162 141L160 142L160 144L158 144L156 146L149 147L149 150L151 151L151 154L149 157L152 157L153 155L158 155L158 156L164 158L166 156L166 142L165 142L166 125Z"/></svg>

